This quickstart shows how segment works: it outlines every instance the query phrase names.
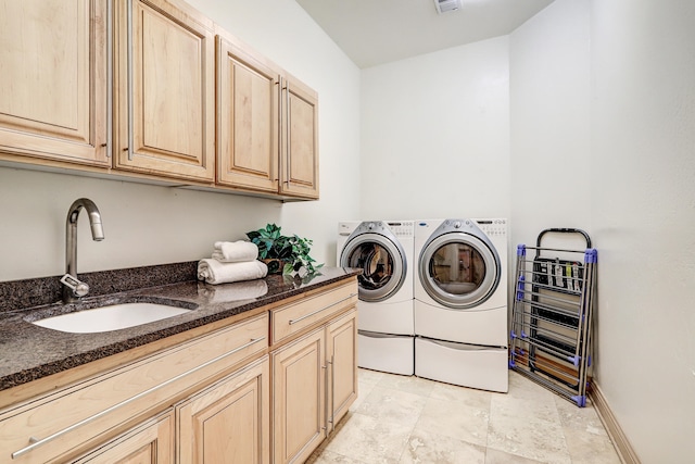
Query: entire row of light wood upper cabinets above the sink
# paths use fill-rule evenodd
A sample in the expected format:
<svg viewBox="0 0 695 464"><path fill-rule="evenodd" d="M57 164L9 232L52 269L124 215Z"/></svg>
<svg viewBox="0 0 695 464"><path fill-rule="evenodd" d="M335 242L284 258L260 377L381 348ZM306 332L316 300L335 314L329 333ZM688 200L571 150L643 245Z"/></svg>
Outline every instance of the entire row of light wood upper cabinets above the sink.
<svg viewBox="0 0 695 464"><path fill-rule="evenodd" d="M0 161L311 200L317 124L314 90L182 0L0 0Z"/></svg>

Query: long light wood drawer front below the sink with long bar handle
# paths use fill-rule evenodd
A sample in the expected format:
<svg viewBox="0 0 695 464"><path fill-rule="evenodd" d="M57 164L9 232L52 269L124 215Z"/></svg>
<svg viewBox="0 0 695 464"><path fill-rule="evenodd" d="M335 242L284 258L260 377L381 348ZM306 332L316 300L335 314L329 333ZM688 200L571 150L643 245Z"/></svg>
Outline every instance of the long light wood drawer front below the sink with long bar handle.
<svg viewBox="0 0 695 464"><path fill-rule="evenodd" d="M264 313L7 411L0 416L0 462L47 463L93 447L100 435L122 430L265 352L267 334Z"/></svg>

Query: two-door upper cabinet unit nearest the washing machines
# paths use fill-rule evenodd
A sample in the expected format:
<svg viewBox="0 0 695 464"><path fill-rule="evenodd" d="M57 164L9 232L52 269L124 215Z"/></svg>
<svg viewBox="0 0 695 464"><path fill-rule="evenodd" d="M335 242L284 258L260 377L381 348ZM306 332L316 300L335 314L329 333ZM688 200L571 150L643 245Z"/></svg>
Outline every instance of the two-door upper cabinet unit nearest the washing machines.
<svg viewBox="0 0 695 464"><path fill-rule="evenodd" d="M217 38L217 184L318 198L318 98L231 36Z"/></svg>

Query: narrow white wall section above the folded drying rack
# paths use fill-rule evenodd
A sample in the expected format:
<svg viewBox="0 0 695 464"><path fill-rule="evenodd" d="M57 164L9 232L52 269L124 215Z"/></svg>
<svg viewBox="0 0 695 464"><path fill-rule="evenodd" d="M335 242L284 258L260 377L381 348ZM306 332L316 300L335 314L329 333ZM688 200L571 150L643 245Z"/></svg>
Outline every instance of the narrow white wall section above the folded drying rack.
<svg viewBox="0 0 695 464"><path fill-rule="evenodd" d="M556 0L509 36L511 242L591 230L590 10Z"/></svg>

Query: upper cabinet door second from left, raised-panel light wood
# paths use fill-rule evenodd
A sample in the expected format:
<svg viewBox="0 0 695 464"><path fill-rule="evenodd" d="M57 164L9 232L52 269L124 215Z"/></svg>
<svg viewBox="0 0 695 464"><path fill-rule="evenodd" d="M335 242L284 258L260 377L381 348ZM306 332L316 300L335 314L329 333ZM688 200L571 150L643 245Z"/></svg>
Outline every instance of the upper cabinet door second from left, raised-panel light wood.
<svg viewBox="0 0 695 464"><path fill-rule="evenodd" d="M214 180L213 23L179 1L117 2L116 166Z"/></svg>

